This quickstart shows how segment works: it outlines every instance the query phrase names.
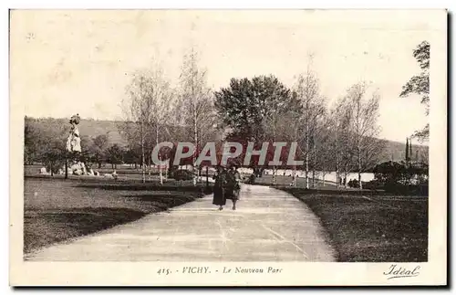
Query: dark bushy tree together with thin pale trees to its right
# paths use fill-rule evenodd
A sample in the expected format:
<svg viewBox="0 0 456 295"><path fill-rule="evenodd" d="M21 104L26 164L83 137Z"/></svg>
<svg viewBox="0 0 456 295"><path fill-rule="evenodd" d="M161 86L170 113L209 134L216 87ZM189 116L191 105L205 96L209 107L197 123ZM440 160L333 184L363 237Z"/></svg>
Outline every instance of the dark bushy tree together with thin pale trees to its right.
<svg viewBox="0 0 456 295"><path fill-rule="evenodd" d="M361 173L378 163L383 148L376 138L378 99L377 92L369 93L368 84L360 82L328 108L316 73L307 69L291 90L274 76L232 79L230 87L215 92L215 107L232 129L230 139L298 142L297 158L304 160L308 188L310 179L315 185L316 170L336 171L337 179L356 171L360 180Z"/></svg>

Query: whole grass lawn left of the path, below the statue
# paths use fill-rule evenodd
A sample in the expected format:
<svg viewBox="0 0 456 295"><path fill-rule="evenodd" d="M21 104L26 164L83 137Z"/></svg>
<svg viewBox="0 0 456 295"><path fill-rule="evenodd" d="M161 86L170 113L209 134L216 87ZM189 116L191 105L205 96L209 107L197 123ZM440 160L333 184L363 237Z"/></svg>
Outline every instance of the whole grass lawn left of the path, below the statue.
<svg viewBox="0 0 456 295"><path fill-rule="evenodd" d="M50 177L26 177L24 188L25 253L210 193L175 181L160 185Z"/></svg>

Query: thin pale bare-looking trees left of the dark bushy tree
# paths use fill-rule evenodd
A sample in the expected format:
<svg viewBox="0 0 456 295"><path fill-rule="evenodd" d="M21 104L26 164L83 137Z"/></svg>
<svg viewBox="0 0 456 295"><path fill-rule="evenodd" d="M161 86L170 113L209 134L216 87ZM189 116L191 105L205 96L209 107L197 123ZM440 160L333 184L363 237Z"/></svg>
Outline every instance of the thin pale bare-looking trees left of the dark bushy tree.
<svg viewBox="0 0 456 295"><path fill-rule="evenodd" d="M201 147L215 140L217 118L213 108L212 91L207 86L206 71L198 66L198 56L192 50L183 59L177 88L172 88L160 65L136 72L123 101L125 123L119 131L129 142L130 150L140 148L142 167L146 153L159 142L192 142ZM195 151L198 154L197 148ZM159 160L165 155L159 153ZM195 165L196 157L192 157ZM200 169L195 169L196 173ZM145 181L145 169L142 169ZM162 172L160 169L162 183ZM196 184L196 178L195 178Z"/></svg>

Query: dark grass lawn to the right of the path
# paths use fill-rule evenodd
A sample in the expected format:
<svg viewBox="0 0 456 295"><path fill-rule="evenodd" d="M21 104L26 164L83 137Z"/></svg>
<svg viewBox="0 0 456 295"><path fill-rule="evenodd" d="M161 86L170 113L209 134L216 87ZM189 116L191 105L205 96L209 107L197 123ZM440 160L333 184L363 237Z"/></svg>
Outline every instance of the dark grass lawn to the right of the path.
<svg viewBox="0 0 456 295"><path fill-rule="evenodd" d="M282 189L320 218L338 261L428 261L428 197Z"/></svg>

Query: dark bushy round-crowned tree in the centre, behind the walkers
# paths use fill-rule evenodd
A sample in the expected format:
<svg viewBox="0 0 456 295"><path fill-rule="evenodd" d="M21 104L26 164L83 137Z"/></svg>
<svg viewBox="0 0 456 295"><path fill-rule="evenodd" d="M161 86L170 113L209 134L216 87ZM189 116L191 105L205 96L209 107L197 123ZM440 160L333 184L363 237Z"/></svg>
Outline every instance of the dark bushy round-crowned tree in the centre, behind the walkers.
<svg viewBox="0 0 456 295"><path fill-rule="evenodd" d="M231 79L229 87L214 95L219 118L223 126L230 129L227 137L243 145L254 142L255 149L263 142L275 142L283 135L284 118L293 109L290 90L272 75ZM272 157L274 149L269 149L268 159L272 160ZM254 157L250 166L261 175ZM275 172L275 166L273 169Z"/></svg>

